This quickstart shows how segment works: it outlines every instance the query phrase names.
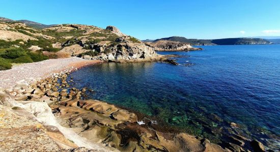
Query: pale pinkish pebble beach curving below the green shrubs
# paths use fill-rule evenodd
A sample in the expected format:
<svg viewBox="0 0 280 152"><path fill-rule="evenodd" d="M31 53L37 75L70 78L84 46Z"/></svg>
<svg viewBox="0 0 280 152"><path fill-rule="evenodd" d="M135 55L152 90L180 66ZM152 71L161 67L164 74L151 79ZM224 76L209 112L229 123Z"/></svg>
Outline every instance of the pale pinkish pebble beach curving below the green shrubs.
<svg viewBox="0 0 280 152"><path fill-rule="evenodd" d="M99 62L101 61L71 57L14 65L12 69L0 71L0 87L11 88L20 80L33 81L40 78L46 78L52 72L60 72L70 68L79 68Z"/></svg>

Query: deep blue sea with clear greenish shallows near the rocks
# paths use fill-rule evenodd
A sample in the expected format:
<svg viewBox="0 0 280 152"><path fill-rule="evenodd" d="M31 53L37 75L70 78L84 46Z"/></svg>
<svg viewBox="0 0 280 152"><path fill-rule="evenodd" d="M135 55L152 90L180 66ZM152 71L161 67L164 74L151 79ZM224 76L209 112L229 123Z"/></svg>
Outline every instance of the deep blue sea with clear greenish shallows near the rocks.
<svg viewBox="0 0 280 152"><path fill-rule="evenodd" d="M85 67L70 74L72 86L95 90L89 98L146 113L212 140L223 136L218 133L231 133L221 128L230 122L249 137L268 138L265 132L278 138L280 45L202 47L204 51L158 52L182 55L175 58L177 66L145 62Z"/></svg>

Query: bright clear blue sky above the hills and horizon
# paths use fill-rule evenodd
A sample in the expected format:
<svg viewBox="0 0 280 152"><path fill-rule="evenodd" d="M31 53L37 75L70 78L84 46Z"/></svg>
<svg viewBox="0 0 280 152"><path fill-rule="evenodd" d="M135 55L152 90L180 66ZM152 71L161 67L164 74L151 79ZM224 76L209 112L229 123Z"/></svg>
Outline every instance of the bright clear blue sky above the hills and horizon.
<svg viewBox="0 0 280 152"><path fill-rule="evenodd" d="M279 0L1 0L0 16L43 24L114 25L141 40L280 35Z"/></svg>

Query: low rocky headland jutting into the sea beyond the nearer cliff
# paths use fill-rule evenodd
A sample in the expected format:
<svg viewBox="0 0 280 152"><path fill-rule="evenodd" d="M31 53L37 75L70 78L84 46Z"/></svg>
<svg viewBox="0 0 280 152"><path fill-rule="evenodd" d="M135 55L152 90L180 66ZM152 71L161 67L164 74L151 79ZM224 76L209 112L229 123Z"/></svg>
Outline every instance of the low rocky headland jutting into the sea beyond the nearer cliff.
<svg viewBox="0 0 280 152"><path fill-rule="evenodd" d="M154 48L156 51L194 51L202 50L201 48L194 48L188 43L176 42L176 41L156 41L151 43L145 43L147 46Z"/></svg>

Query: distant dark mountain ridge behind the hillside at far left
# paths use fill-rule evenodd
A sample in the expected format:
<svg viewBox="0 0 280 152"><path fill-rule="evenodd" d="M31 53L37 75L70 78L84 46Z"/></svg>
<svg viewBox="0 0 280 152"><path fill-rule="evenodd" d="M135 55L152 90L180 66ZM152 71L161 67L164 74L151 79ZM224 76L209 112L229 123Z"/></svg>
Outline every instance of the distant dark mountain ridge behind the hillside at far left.
<svg viewBox="0 0 280 152"><path fill-rule="evenodd" d="M12 23L12 22L25 23L27 26L37 28L37 29L44 29L44 28L48 28L48 27L51 27L51 26L55 26L55 24L46 25L46 24L41 24L41 23L38 23L38 22L33 22L33 21L30 21L30 20L12 20L12 19L8 19L8 18L5 18L5 17L0 17L0 21L8 22L8 23Z"/></svg>

